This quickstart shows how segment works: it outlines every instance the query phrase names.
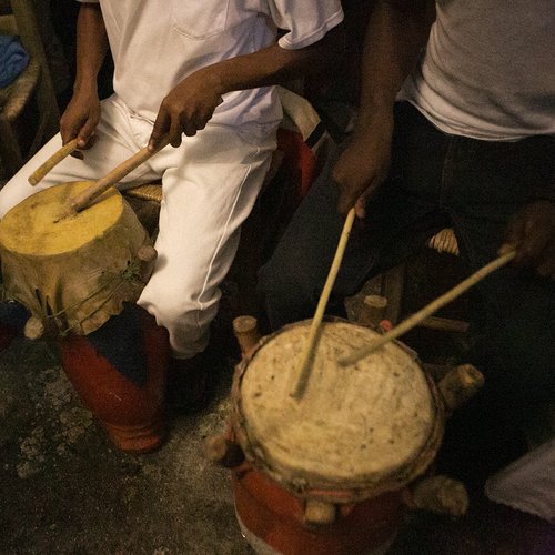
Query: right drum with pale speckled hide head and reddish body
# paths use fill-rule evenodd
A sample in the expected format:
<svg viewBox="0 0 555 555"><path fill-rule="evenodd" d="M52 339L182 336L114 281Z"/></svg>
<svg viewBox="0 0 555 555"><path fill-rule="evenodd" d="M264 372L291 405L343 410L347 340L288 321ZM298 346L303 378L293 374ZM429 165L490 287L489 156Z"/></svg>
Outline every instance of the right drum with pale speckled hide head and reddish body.
<svg viewBox="0 0 555 555"><path fill-rule="evenodd" d="M322 325L304 397L292 396L310 321L263 337L236 369L232 435L235 507L258 553L385 553L407 484L438 450L444 413L415 354L389 343L353 366L337 360L377 336Z"/></svg>

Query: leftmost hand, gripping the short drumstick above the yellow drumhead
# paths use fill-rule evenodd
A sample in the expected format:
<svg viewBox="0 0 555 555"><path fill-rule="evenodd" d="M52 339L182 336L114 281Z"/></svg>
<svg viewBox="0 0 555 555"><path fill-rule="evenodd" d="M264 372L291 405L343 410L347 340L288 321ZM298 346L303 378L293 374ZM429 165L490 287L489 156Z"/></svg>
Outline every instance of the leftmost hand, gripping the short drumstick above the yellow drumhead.
<svg viewBox="0 0 555 555"><path fill-rule="evenodd" d="M60 119L60 133L63 144L77 138L78 149L90 149L98 139L94 130L99 121L100 100L98 94L73 94Z"/></svg>

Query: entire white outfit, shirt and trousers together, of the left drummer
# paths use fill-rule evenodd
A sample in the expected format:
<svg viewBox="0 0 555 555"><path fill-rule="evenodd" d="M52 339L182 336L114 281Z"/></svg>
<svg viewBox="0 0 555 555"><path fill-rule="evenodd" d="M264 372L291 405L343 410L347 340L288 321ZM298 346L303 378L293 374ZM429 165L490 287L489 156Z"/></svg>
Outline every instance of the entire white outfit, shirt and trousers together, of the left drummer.
<svg viewBox="0 0 555 555"><path fill-rule="evenodd" d="M93 0L94 1L94 0ZM275 41L303 48L343 19L340 0L100 0L114 59L115 93L102 103L98 143L63 160L38 188L27 178L61 147L53 138L0 192L0 218L52 184L94 180L143 148L163 98L193 71ZM162 179L159 256L139 305L170 332L173 355L202 351L219 283L236 251L275 149L282 112L273 88L231 92L206 128L167 147L124 180Z"/></svg>

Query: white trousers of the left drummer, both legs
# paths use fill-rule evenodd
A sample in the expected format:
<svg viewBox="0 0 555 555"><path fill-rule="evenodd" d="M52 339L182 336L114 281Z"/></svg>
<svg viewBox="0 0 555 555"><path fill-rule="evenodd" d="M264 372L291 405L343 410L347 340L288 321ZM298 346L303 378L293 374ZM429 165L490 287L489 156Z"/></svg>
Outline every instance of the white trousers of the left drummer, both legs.
<svg viewBox="0 0 555 555"><path fill-rule="evenodd" d="M68 157L37 186L29 185L28 176L61 147L60 135L51 139L0 191L0 218L39 190L103 176L143 148L151 131L152 122L130 113L121 100L103 101L99 141L84 151L84 160ZM265 137L209 124L184 137L179 149L165 147L119 185L162 179L158 259L138 304L168 329L175 357L191 357L208 344L219 284L275 149L274 129Z"/></svg>

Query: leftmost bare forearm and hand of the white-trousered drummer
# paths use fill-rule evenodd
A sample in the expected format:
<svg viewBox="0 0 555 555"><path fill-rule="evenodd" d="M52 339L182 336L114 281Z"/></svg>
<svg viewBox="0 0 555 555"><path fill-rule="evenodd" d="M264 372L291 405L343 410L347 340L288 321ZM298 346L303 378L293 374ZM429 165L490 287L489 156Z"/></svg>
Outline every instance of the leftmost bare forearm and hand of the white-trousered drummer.
<svg viewBox="0 0 555 555"><path fill-rule="evenodd" d="M60 132L64 144L78 138L78 148L85 149L94 142L94 130L100 121L97 79L108 48L100 4L82 3L77 21L73 95L60 120Z"/></svg>

